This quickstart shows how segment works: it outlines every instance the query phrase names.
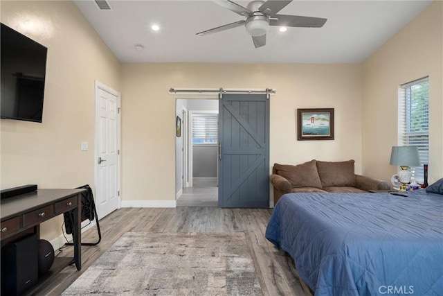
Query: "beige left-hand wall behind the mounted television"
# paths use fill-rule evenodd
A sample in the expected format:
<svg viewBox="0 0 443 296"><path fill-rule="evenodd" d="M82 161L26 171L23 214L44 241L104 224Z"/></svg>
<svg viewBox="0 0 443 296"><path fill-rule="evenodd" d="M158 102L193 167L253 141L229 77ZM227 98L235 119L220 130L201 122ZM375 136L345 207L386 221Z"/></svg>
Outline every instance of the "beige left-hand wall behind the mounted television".
<svg viewBox="0 0 443 296"><path fill-rule="evenodd" d="M43 123L1 119L1 189L94 186L94 80L120 89L120 63L70 1L1 1L1 21L48 48Z"/></svg>

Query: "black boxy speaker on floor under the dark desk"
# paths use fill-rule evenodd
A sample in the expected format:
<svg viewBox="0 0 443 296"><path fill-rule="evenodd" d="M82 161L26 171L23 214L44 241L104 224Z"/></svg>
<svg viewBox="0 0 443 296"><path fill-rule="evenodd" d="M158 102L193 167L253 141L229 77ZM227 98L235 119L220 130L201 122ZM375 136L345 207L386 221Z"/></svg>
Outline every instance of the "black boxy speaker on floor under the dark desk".
<svg viewBox="0 0 443 296"><path fill-rule="evenodd" d="M37 284L37 241L32 234L1 248L1 295L21 295Z"/></svg>

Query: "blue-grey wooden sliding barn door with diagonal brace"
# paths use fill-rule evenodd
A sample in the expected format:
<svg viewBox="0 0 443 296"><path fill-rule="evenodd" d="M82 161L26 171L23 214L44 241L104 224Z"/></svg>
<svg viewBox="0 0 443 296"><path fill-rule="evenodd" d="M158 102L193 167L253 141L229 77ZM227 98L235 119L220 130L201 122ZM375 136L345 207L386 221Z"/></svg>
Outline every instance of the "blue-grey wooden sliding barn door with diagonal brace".
<svg viewBox="0 0 443 296"><path fill-rule="evenodd" d="M269 207L269 98L219 99L219 207Z"/></svg>

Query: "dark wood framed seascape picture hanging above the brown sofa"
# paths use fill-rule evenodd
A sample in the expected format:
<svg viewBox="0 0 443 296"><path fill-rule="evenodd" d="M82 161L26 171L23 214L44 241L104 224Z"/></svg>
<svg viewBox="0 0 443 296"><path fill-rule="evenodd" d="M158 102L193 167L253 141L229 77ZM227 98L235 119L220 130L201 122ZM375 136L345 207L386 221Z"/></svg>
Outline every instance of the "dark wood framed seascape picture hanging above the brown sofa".
<svg viewBox="0 0 443 296"><path fill-rule="evenodd" d="M334 108L297 109L297 140L334 140Z"/></svg>

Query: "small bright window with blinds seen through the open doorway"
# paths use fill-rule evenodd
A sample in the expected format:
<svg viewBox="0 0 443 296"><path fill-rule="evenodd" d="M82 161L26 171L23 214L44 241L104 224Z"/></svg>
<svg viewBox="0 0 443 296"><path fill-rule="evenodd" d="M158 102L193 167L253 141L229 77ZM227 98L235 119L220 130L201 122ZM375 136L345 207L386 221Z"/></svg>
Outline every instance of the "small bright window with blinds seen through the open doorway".
<svg viewBox="0 0 443 296"><path fill-rule="evenodd" d="M217 114L192 115L192 143L216 144L218 139Z"/></svg>

